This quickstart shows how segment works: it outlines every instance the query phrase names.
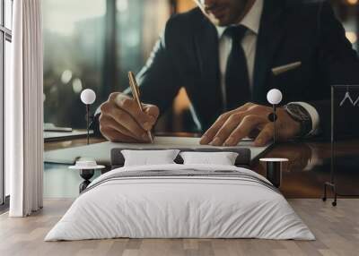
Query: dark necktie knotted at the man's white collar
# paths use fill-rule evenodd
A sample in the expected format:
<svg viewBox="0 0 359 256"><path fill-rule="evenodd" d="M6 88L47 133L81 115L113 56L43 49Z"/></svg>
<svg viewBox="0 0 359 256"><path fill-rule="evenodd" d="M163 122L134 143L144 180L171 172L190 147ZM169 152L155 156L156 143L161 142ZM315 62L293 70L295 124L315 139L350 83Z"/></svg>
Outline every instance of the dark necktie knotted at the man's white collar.
<svg viewBox="0 0 359 256"><path fill-rule="evenodd" d="M228 27L224 34L232 38L232 51L228 57L225 72L226 102L225 109L232 110L250 101L250 80L247 59L241 47L241 40L247 28L240 26Z"/></svg>

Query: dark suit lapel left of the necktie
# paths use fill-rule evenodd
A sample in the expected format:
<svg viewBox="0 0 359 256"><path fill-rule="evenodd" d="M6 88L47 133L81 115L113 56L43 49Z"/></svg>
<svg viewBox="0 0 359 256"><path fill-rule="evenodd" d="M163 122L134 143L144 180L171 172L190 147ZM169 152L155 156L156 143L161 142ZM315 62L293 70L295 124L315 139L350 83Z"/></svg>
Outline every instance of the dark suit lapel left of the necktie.
<svg viewBox="0 0 359 256"><path fill-rule="evenodd" d="M200 73L200 90L206 105L206 120L211 120L223 109L222 92L219 79L219 39L215 26L201 13L202 21L199 23L194 35L198 70ZM212 113L211 113L212 112Z"/></svg>

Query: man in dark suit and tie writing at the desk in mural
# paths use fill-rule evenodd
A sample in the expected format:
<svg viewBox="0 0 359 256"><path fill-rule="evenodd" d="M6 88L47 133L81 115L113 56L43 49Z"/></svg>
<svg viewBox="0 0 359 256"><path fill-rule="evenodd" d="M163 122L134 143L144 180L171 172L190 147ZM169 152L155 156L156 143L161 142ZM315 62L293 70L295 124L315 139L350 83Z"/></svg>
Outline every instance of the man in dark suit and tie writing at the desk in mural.
<svg viewBox="0 0 359 256"><path fill-rule="evenodd" d="M282 141L329 133L330 85L358 83L359 61L326 1L198 0L174 15L138 74L144 113L126 93L101 105L98 128L109 141L148 141L160 113L185 87L202 144L233 146L273 138L267 91L283 92ZM294 65L280 75L275 67Z"/></svg>

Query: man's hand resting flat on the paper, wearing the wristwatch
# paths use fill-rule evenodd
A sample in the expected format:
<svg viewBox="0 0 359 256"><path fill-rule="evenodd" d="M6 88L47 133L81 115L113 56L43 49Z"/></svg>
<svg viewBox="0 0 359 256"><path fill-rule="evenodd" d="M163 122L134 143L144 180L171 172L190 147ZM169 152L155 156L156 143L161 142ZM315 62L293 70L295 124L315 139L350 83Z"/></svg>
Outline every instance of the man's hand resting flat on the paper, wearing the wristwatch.
<svg viewBox="0 0 359 256"><path fill-rule="evenodd" d="M274 124L268 119L272 107L247 103L221 115L202 136L201 144L236 146L243 138L255 138L254 145L265 146L273 139ZM284 108L276 111L276 136L279 141L292 139L299 134L301 124L294 121Z"/></svg>

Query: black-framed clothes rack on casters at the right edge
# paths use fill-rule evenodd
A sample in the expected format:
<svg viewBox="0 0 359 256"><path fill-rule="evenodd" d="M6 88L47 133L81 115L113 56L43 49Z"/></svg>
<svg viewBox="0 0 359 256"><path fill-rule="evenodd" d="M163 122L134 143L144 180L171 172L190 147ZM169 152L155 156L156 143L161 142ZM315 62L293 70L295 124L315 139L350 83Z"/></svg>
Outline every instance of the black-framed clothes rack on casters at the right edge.
<svg viewBox="0 0 359 256"><path fill-rule="evenodd" d="M330 189L336 206L337 196L359 196L359 85L331 87L330 126L330 181L324 185L323 201Z"/></svg>

